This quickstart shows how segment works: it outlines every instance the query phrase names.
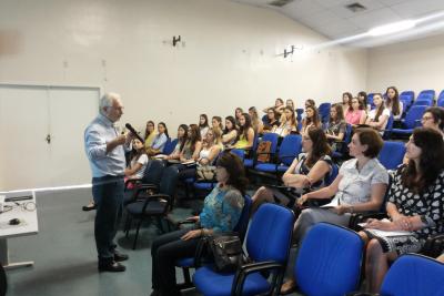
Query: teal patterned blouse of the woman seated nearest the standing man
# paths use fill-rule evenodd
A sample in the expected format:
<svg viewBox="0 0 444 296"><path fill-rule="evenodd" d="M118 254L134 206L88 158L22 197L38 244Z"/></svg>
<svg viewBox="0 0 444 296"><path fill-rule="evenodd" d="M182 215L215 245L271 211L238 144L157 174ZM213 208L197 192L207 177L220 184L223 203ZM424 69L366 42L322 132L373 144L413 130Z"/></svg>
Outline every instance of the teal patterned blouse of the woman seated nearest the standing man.
<svg viewBox="0 0 444 296"><path fill-rule="evenodd" d="M240 191L219 185L205 197L200 224L203 228L214 232L231 232L236 226L242 214L244 200Z"/></svg>

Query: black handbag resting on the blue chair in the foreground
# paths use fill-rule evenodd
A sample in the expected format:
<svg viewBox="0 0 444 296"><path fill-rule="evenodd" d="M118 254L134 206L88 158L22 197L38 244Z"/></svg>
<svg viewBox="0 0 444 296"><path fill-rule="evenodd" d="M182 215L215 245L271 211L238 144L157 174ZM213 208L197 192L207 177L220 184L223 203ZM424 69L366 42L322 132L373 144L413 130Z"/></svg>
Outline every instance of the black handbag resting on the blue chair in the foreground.
<svg viewBox="0 0 444 296"><path fill-rule="evenodd" d="M209 254L212 255L213 268L219 273L235 272L249 259L243 253L242 242L234 233L208 236Z"/></svg>

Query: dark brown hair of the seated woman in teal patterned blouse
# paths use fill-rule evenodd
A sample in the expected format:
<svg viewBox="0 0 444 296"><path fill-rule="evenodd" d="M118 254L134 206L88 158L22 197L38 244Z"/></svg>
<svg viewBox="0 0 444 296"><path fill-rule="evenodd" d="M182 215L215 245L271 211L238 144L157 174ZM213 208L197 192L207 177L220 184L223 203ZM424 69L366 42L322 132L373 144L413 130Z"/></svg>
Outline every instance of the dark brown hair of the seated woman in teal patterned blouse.
<svg viewBox="0 0 444 296"><path fill-rule="evenodd" d="M242 194L245 194L245 187L249 181L245 177L243 163L238 155L231 152L223 152L218 159L216 166L224 167L229 173L226 185L231 185Z"/></svg>

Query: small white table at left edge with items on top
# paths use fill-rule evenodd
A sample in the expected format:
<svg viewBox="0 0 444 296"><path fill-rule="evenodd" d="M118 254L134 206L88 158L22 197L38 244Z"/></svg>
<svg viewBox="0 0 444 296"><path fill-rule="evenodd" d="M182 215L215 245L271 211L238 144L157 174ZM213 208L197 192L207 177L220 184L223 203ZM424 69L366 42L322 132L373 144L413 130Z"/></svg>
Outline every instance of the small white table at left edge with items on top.
<svg viewBox="0 0 444 296"><path fill-rule="evenodd" d="M0 262L3 264L4 269L32 266L34 264L34 262L32 261L20 262L20 263L9 262L8 238L24 236L24 235L33 235L39 232L39 225L37 220L36 193L33 191L12 192L12 193L2 193L1 195L6 195L7 200L9 197L21 197L21 196L31 196L32 198L4 203L3 210L6 212L0 213ZM11 211L8 211L8 208L10 208L9 206L12 206ZM33 211L31 208L33 208ZM12 218L20 220L20 224L10 225L9 221Z"/></svg>

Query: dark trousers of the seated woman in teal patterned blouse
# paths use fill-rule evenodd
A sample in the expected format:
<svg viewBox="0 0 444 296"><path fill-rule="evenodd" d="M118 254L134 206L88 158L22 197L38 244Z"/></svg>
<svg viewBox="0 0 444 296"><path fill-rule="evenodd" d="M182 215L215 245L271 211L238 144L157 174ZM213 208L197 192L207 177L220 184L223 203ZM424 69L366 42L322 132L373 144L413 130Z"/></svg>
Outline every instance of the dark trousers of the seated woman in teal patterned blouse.
<svg viewBox="0 0 444 296"><path fill-rule="evenodd" d="M152 287L162 295L180 295L175 287L175 262L193 257L200 238L182 241L190 229L181 229L159 236L151 246Z"/></svg>

